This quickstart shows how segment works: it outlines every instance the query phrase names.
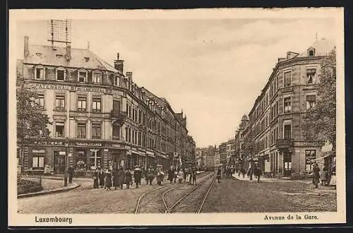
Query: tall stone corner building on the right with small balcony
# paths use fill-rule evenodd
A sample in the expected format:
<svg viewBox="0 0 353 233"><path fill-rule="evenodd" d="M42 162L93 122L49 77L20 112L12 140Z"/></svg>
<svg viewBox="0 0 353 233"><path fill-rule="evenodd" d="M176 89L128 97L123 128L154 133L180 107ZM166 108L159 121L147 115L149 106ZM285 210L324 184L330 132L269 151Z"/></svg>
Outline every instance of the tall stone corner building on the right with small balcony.
<svg viewBox="0 0 353 233"><path fill-rule="evenodd" d="M321 59L333 49L332 41L322 39L300 54L287 52L278 59L241 133L246 160L257 162L263 172L284 177L306 173L320 156L321 148L305 141L301 124L306 109L318 100Z"/></svg>

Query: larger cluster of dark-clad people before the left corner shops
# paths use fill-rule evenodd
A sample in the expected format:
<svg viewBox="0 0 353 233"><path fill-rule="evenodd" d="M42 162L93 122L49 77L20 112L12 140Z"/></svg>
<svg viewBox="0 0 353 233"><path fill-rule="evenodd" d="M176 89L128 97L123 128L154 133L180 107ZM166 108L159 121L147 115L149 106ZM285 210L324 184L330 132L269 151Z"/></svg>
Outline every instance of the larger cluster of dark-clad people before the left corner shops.
<svg viewBox="0 0 353 233"><path fill-rule="evenodd" d="M126 189L130 189L130 185L135 181L136 189L141 184L142 171L140 167L136 166L133 171L130 168L116 167L116 169L101 169L98 168L92 174L93 188L104 188L106 190L123 189L126 184Z"/></svg>

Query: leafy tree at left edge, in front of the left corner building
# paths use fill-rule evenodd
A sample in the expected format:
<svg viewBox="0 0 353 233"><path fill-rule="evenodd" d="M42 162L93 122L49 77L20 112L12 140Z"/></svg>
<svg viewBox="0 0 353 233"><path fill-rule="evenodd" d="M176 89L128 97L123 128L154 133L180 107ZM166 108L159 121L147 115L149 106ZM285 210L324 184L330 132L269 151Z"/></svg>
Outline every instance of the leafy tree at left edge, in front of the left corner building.
<svg viewBox="0 0 353 233"><path fill-rule="evenodd" d="M48 138L49 121L47 114L43 114L42 110L38 108L37 92L25 87L23 76L17 72L16 82L16 102L17 102L17 141L20 145L21 153L23 147L30 141L31 138ZM21 165L22 165L21 156Z"/></svg>

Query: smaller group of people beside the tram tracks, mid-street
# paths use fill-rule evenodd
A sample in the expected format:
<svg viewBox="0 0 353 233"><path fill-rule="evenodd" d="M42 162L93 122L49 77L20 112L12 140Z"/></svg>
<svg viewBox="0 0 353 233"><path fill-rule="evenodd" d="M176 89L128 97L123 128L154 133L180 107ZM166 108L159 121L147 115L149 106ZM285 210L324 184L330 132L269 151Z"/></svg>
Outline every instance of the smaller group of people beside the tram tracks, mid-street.
<svg viewBox="0 0 353 233"><path fill-rule="evenodd" d="M168 170L168 180L170 182L170 184L173 183L174 184L177 183L177 179L178 179L178 183L182 184L184 181L184 184L196 184L196 168L195 167L188 167L188 168L184 168L184 169L175 169L173 167L171 167Z"/></svg>

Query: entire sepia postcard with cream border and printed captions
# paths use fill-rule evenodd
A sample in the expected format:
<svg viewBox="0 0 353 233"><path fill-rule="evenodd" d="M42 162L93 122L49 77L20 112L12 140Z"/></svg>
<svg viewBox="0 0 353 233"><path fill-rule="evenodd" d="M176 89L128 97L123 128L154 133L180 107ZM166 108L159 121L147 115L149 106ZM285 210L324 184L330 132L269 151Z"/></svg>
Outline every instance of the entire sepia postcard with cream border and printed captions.
<svg viewBox="0 0 353 233"><path fill-rule="evenodd" d="M8 225L345 223L343 12L11 10Z"/></svg>

